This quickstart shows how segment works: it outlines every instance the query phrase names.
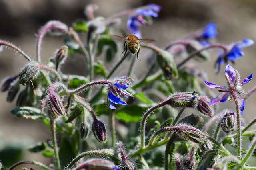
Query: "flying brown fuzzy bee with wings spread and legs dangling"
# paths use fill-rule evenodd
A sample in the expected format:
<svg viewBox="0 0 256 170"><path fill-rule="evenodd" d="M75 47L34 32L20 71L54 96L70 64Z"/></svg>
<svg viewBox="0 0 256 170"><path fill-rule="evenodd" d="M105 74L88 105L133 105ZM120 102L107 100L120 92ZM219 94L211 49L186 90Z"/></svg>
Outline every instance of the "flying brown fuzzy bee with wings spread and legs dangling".
<svg viewBox="0 0 256 170"><path fill-rule="evenodd" d="M120 37L118 35L112 35L111 37L112 39L117 41L124 41L124 51L122 52L124 53L124 56L129 50L132 54L135 53L137 55L137 59L140 52L140 43L152 43L153 41L155 41L152 39L138 39L138 37L136 37L135 35L129 35L128 37L126 37L125 35L124 37Z"/></svg>

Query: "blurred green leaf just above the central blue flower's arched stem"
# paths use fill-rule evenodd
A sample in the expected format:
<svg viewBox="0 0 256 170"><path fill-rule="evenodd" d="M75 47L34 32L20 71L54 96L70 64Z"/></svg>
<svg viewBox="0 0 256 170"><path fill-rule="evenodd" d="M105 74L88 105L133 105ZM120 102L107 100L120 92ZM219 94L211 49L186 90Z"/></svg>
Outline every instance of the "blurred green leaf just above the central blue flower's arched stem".
<svg viewBox="0 0 256 170"><path fill-rule="evenodd" d="M64 82L68 81L68 87L69 88L78 88L86 83L89 82L88 78L84 76L78 76L78 75L66 75L64 74L62 76Z"/></svg>

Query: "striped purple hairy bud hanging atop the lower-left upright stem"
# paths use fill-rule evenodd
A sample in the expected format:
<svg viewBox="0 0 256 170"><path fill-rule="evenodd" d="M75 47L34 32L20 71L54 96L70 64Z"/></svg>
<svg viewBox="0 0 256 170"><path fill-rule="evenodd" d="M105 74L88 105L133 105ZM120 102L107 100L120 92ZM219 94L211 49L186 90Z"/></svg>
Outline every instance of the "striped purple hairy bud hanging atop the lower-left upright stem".
<svg viewBox="0 0 256 170"><path fill-rule="evenodd" d="M48 94L47 97L48 106L52 113L57 117L66 116L66 112L64 111L63 103L60 96L55 92L52 91Z"/></svg>

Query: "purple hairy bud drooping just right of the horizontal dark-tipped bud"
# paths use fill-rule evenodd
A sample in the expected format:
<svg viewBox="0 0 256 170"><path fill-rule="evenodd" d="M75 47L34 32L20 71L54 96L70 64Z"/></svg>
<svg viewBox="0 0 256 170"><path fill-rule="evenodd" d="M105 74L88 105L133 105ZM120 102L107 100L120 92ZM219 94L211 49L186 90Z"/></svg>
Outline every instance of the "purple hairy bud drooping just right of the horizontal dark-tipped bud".
<svg viewBox="0 0 256 170"><path fill-rule="evenodd" d="M204 115L208 115L212 117L214 109L213 109L213 105L209 104L210 102L211 100L208 97L200 97L198 99L197 109Z"/></svg>

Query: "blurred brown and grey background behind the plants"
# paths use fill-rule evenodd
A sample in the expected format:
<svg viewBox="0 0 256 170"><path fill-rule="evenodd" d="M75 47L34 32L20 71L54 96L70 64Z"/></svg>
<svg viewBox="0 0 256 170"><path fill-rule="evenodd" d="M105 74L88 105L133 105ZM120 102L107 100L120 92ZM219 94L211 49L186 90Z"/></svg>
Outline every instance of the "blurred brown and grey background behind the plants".
<svg viewBox="0 0 256 170"><path fill-rule="evenodd" d="M143 37L155 39L159 47L182 39L188 33L205 27L209 22L215 22L218 25L218 42L229 44L245 38L256 41L256 1L252 0L0 0L0 39L14 43L30 57L35 58L36 34L42 25L50 20L59 20L72 26L76 19L87 20L84 8L91 3L99 6L99 10L94 13L95 16L105 18L148 3L162 6L159 17L153 18L152 25L140 27ZM127 19L123 18L121 27L128 34ZM42 45L42 61L46 61L62 45L64 45L62 37L46 35ZM140 52L140 61L138 61L140 63L143 63L143 51ZM216 60L217 50L212 50L210 53L211 60L200 65L208 74L210 82L225 85L225 66L222 65L220 74L216 76L213 63ZM232 65L240 72L241 79L250 74L256 76L256 45L245 48L244 53L245 55L236 61L236 65ZM0 80L19 73L24 64L26 64L24 58L4 48L0 53ZM83 75L84 68L82 57L77 57L76 61L68 59L62 66L63 72L68 74ZM244 88L248 91L255 84L254 78ZM217 90L214 92L218 93ZM243 115L246 122L256 115L255 101L256 94L246 101ZM234 104L232 102L220 104L220 110L224 106L233 108ZM6 146L27 147L27 143L33 145L50 138L50 131L42 122L12 116L10 110L14 107L15 102L6 102L6 93L0 93L0 150ZM40 154L31 154L25 150L23 152L26 155L22 158L23 160L33 159L46 164L52 161Z"/></svg>

